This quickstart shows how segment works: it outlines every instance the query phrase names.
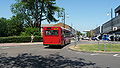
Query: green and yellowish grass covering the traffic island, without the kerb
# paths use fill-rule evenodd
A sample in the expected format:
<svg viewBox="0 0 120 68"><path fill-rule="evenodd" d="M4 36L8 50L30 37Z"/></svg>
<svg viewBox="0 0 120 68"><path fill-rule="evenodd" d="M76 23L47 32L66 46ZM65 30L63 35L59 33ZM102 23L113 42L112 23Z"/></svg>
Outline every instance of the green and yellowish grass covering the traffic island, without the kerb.
<svg viewBox="0 0 120 68"><path fill-rule="evenodd" d="M75 47L77 50L80 51L89 51L89 52L96 52L96 51L107 51L107 52L120 52L120 44L79 44Z"/></svg>

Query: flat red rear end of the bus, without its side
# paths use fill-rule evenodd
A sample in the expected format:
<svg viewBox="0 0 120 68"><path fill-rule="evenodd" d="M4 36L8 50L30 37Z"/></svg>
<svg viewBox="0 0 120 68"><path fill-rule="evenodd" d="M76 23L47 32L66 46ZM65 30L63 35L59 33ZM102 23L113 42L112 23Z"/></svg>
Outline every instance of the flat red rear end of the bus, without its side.
<svg viewBox="0 0 120 68"><path fill-rule="evenodd" d="M62 45L60 27L43 27L43 45Z"/></svg>

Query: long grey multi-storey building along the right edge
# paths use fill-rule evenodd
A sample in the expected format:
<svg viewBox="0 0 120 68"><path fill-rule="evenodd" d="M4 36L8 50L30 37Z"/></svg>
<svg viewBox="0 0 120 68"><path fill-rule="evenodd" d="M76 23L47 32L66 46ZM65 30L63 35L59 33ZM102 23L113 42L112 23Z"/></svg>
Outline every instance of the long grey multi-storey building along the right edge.
<svg viewBox="0 0 120 68"><path fill-rule="evenodd" d="M112 14L112 13L111 13ZM115 9L115 17L94 29L94 35L117 34L120 35L120 6Z"/></svg>

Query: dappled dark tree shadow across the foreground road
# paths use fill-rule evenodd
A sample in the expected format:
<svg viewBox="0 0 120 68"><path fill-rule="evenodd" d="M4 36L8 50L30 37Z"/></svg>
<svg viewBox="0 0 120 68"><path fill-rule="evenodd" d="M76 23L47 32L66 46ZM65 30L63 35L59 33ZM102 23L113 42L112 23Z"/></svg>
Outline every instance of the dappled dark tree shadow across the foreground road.
<svg viewBox="0 0 120 68"><path fill-rule="evenodd" d="M94 65L82 58L71 60L58 54L45 57L28 53L16 57L0 55L0 68L82 68Z"/></svg>

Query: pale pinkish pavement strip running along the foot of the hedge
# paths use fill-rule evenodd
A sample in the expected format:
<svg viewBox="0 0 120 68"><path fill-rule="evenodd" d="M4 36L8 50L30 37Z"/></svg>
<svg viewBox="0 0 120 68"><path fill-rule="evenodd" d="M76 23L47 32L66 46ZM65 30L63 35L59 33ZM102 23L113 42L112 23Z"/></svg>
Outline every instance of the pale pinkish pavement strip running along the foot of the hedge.
<svg viewBox="0 0 120 68"><path fill-rule="evenodd" d="M0 46L23 46L23 45L39 45L43 42L28 42L28 43L0 43Z"/></svg>

